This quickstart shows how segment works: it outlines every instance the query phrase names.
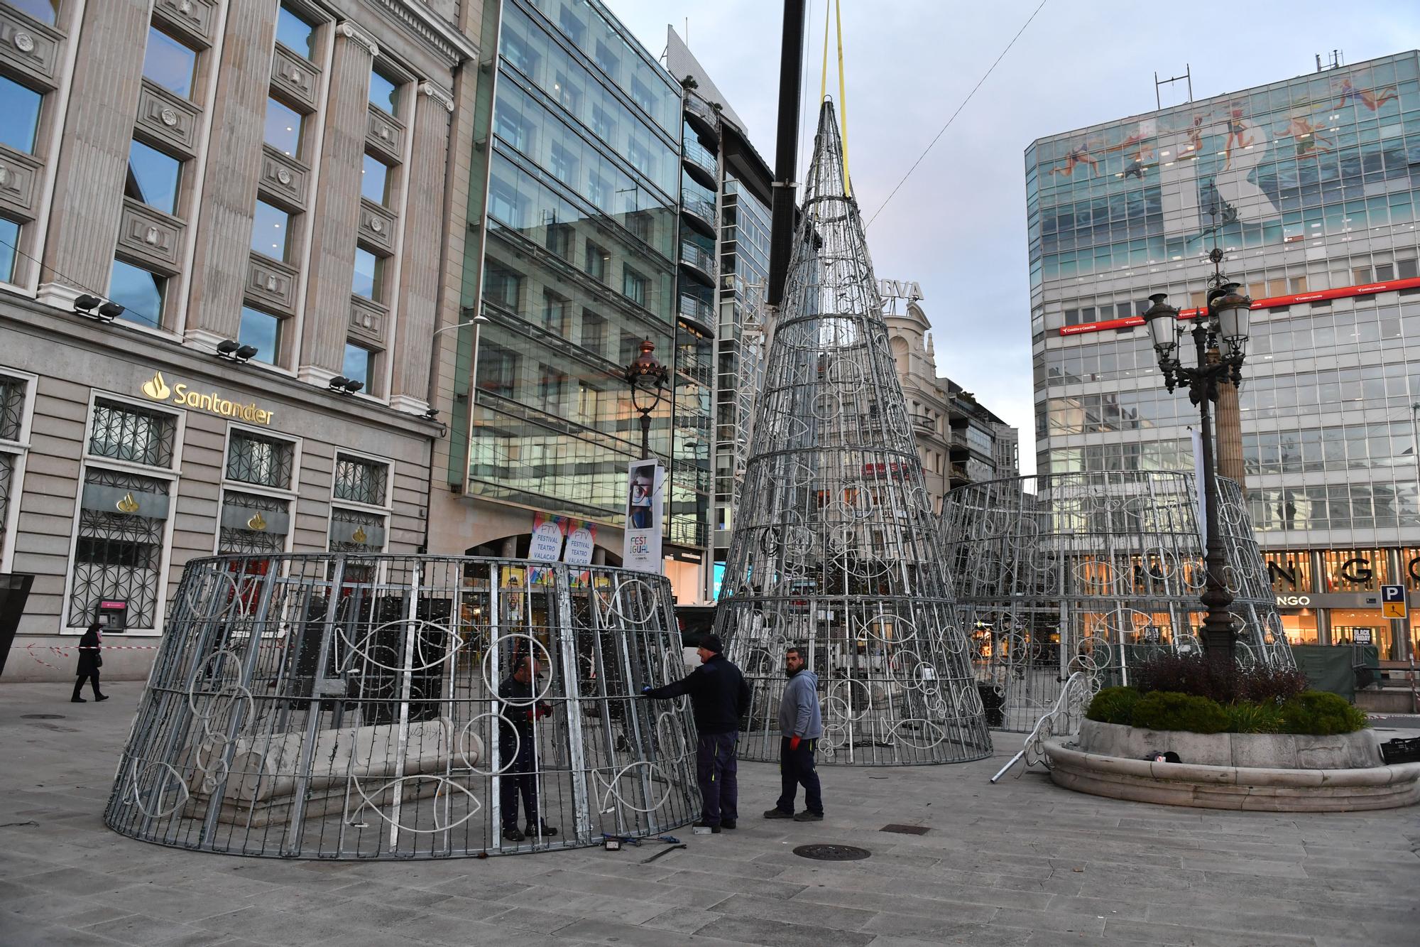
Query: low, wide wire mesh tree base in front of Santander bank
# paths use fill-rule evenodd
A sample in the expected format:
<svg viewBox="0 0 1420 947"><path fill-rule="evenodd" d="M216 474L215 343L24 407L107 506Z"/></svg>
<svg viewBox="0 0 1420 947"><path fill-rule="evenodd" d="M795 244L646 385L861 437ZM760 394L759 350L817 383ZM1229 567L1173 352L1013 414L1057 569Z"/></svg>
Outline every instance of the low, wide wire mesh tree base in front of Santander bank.
<svg viewBox="0 0 1420 947"><path fill-rule="evenodd" d="M187 565L104 813L206 852L430 859L700 809L670 583L437 556ZM535 674L514 685L524 656ZM525 838L523 838L525 836Z"/></svg>

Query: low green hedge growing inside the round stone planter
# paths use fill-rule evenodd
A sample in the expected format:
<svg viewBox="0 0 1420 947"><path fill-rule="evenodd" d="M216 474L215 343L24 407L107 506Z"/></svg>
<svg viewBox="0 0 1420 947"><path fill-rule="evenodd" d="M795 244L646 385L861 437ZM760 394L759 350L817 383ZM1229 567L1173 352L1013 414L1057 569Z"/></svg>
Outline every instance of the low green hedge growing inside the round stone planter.
<svg viewBox="0 0 1420 947"><path fill-rule="evenodd" d="M1140 694L1132 687L1106 687L1095 694L1085 717L1102 724L1193 734L1353 734L1370 724L1366 714L1335 694L1304 691L1288 701L1234 701L1173 691Z"/></svg>

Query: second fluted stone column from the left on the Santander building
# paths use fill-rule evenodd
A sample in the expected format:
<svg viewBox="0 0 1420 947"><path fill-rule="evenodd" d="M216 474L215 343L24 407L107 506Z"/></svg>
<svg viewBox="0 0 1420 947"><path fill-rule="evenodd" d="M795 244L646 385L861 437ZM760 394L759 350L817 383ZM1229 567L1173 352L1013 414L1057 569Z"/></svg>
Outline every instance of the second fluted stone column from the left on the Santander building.
<svg viewBox="0 0 1420 947"><path fill-rule="evenodd" d="M231 0L213 70L212 141L197 212L187 338L236 338L261 176L275 21L267 0Z"/></svg>

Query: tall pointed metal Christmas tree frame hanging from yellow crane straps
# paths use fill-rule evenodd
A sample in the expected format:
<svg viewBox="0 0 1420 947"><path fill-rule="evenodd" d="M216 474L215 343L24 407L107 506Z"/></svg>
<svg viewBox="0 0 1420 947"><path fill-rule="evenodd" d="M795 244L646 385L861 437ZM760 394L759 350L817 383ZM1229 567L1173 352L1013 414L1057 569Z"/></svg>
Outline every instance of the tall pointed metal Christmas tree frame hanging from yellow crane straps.
<svg viewBox="0 0 1420 947"><path fill-rule="evenodd" d="M825 102L716 617L754 687L740 755L778 759L798 646L818 675L821 762L980 759L981 697L846 191Z"/></svg>

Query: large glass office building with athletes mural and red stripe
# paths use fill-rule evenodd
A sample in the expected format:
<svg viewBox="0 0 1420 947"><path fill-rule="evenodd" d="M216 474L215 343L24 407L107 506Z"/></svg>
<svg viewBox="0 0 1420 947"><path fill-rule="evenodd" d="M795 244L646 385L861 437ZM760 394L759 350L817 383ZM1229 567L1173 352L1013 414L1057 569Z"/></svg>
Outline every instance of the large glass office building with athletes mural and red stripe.
<svg viewBox="0 0 1420 947"><path fill-rule="evenodd" d="M1197 412L1139 313L1204 303L1208 250L1252 296L1240 392L1258 530L1289 636L1416 647L1420 592L1416 53L1035 141L1025 152L1037 465L1189 469Z"/></svg>

